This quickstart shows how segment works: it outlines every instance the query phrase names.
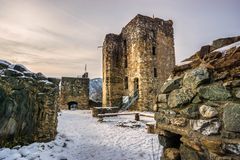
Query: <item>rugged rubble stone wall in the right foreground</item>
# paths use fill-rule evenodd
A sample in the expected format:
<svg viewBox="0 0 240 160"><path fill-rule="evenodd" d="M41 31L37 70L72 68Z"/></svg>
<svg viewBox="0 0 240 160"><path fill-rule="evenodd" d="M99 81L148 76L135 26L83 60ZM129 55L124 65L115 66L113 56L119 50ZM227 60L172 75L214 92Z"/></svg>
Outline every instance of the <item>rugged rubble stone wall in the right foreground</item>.
<svg viewBox="0 0 240 160"><path fill-rule="evenodd" d="M239 159L239 40L202 47L162 86L155 106L162 159Z"/></svg>

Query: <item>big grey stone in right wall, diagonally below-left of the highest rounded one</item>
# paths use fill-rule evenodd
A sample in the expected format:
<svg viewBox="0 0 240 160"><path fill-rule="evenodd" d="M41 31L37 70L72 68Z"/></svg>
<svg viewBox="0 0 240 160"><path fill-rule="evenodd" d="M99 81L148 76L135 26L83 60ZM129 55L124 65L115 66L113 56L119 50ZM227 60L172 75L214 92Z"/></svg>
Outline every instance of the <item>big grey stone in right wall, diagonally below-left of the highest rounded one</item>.
<svg viewBox="0 0 240 160"><path fill-rule="evenodd" d="M181 107L184 104L190 103L195 93L188 88L181 88L172 91L168 97L168 105L170 108Z"/></svg>

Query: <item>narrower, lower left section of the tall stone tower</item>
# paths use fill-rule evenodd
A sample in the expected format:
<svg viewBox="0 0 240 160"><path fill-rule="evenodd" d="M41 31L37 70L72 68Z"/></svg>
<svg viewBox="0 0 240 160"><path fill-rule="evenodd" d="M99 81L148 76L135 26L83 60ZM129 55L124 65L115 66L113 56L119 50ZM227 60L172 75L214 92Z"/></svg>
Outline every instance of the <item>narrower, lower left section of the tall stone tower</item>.
<svg viewBox="0 0 240 160"><path fill-rule="evenodd" d="M103 99L104 107L121 103L123 95L122 40L108 34L103 44Z"/></svg>

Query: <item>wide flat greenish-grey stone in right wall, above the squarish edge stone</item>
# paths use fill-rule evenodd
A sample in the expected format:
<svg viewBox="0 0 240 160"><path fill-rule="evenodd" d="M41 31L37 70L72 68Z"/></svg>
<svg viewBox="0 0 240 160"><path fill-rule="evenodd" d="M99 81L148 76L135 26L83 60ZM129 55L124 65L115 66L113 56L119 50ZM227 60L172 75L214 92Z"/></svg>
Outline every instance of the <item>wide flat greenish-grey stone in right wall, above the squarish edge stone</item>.
<svg viewBox="0 0 240 160"><path fill-rule="evenodd" d="M227 100L231 97L231 93L220 84L201 86L198 88L198 94L200 97L212 101Z"/></svg>

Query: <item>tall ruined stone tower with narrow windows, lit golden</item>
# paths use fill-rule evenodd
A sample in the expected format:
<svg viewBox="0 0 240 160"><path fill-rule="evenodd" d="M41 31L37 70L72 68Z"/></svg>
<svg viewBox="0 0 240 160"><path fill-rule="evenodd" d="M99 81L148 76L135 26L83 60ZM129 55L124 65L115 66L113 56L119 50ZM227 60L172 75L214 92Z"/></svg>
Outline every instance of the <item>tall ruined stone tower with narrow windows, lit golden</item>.
<svg viewBox="0 0 240 160"><path fill-rule="evenodd" d="M120 35L103 44L103 106L119 106L123 97L139 98L133 110L152 110L157 91L175 65L173 23L137 15Z"/></svg>

